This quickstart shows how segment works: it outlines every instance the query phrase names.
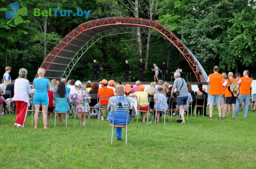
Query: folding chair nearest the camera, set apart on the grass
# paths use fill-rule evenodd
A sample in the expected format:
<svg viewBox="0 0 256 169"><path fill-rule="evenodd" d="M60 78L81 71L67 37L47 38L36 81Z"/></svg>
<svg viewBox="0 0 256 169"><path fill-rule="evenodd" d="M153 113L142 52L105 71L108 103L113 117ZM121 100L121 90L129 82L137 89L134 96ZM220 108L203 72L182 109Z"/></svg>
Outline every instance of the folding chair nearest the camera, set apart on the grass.
<svg viewBox="0 0 256 169"><path fill-rule="evenodd" d="M111 139L111 144L113 143L114 127L121 127L121 128L125 128L125 145L127 145L127 126L128 126L129 107L112 106L110 113L112 114L113 119L112 119L112 123L109 124L111 126L109 143L110 143L110 139ZM117 114L126 115L125 125L116 125L115 124L115 115L117 115Z"/></svg>

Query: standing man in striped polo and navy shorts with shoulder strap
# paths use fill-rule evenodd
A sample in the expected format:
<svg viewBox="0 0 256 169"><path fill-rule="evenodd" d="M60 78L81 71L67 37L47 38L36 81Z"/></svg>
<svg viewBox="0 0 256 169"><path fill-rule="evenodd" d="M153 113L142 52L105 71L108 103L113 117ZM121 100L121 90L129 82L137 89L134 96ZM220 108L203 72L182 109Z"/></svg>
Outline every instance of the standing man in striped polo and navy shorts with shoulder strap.
<svg viewBox="0 0 256 169"><path fill-rule="evenodd" d="M180 72L174 73L174 79L175 80L172 85L171 97L173 97L173 92L175 88L177 88L176 90L179 90L179 93L180 93L177 97L178 98L177 105L179 106L181 120L177 120L177 122L185 123L184 105L187 104L187 100L188 100L188 86L186 81L180 77Z"/></svg>

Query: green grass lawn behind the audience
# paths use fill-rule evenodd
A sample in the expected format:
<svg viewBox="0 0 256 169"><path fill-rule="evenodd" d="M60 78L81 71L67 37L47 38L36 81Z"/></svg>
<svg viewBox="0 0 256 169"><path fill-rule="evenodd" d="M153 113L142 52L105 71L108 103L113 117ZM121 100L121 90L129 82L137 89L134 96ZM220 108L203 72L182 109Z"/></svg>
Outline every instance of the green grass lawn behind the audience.
<svg viewBox="0 0 256 169"><path fill-rule="evenodd" d="M207 109L208 113L208 109ZM175 118L176 119L176 118ZM49 130L31 127L28 114L25 128L13 126L14 114L0 116L1 168L256 168L256 113L248 118L226 116L218 120L189 117L186 124L131 122L128 144L108 143L107 121L92 119L84 128L74 116ZM52 118L52 123L53 123ZM77 123L78 124L78 123Z"/></svg>

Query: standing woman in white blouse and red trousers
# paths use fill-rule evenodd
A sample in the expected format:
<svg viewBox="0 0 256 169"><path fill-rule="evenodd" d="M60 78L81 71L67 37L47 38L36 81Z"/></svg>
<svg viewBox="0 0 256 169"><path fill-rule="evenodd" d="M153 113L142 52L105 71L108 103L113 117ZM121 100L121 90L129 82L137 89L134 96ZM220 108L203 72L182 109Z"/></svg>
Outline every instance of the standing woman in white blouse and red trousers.
<svg viewBox="0 0 256 169"><path fill-rule="evenodd" d="M26 116L28 113L29 97L31 88L29 81L26 79L28 71L25 68L19 70L19 77L14 83L13 100L17 108L17 116L14 125L17 127L24 127Z"/></svg>

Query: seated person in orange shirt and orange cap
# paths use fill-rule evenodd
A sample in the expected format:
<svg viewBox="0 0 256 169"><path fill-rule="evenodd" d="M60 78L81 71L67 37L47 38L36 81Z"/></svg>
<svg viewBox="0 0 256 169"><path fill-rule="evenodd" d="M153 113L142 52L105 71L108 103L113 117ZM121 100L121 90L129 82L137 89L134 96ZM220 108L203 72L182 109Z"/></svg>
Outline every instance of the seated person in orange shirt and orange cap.
<svg viewBox="0 0 256 169"><path fill-rule="evenodd" d="M98 90L98 97L100 98L100 95L108 95L109 98L114 96L114 91L112 88L107 88L108 86L108 81L106 79L103 79L100 81L101 88ZM100 113L100 108L107 108L108 107L108 100L100 100L97 104L95 104L94 111L97 113L98 118L101 118L101 121L104 121L103 115Z"/></svg>

